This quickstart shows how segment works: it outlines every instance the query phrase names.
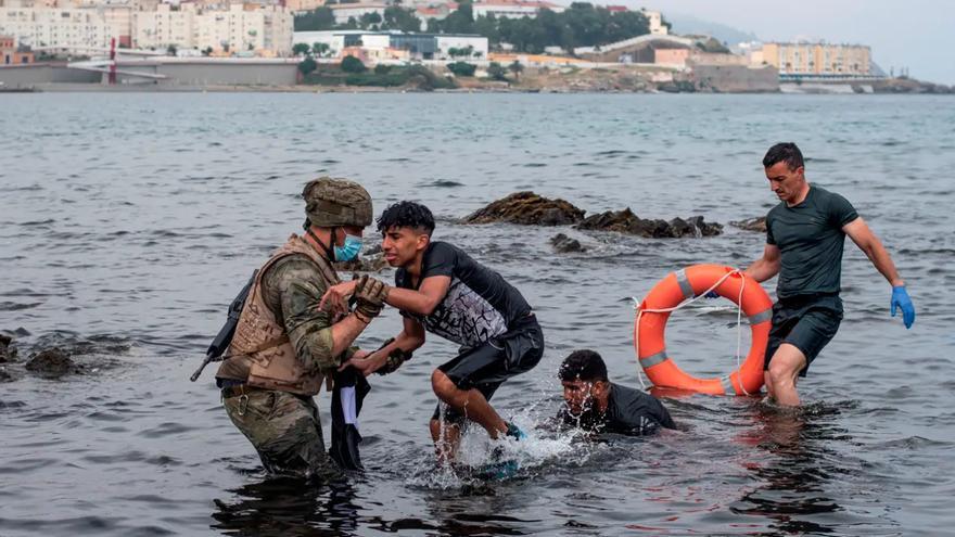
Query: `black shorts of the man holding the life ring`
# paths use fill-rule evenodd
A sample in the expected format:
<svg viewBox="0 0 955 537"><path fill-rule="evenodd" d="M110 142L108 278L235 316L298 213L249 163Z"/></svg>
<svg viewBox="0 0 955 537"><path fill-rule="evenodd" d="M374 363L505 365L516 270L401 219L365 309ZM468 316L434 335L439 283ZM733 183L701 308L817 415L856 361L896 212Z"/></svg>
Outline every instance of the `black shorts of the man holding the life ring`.
<svg viewBox="0 0 955 537"><path fill-rule="evenodd" d="M766 345L763 369L769 369L769 360L788 343L806 357L806 366L799 372L805 376L810 363L819 356L842 322L842 299L839 295L806 295L784 298L773 305L773 327Z"/></svg>

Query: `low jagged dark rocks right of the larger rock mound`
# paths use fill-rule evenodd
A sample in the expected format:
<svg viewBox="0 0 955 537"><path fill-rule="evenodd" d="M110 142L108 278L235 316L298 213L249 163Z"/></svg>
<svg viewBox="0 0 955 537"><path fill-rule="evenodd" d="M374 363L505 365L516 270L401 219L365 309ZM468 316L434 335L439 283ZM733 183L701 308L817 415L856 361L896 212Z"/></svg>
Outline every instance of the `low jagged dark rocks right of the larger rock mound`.
<svg viewBox="0 0 955 537"><path fill-rule="evenodd" d="M617 231L649 239L680 239L685 236L713 236L723 232L723 226L706 222L702 216L670 221L640 218L629 207L591 215L576 226L577 229Z"/></svg>

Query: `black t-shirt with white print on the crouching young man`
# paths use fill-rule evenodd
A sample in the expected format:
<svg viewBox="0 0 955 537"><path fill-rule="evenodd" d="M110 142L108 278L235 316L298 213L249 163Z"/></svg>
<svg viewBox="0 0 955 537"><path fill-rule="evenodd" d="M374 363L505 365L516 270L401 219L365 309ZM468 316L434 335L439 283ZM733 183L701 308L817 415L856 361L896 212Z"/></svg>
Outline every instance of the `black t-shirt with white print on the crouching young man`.
<svg viewBox="0 0 955 537"><path fill-rule="evenodd" d="M447 294L429 316L402 311L417 319L431 333L473 348L508 331L526 317L531 306L500 274L481 265L446 242L432 242L424 251L421 284L432 276L450 277ZM404 268L395 273L395 285L417 289Z"/></svg>

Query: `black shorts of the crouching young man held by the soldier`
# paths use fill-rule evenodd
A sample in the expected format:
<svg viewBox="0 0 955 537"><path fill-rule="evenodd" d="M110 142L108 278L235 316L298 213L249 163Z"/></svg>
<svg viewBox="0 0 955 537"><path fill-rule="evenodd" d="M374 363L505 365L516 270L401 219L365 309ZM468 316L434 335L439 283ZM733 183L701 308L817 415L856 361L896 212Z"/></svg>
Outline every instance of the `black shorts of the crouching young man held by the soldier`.
<svg viewBox="0 0 955 537"><path fill-rule="evenodd" d="M476 389L491 400L504 381L525 373L544 356L544 332L532 315L514 321L504 334L479 347L464 350L438 370L460 389ZM441 417L441 404L432 419ZM461 423L464 417L453 408L445 411L445 421Z"/></svg>

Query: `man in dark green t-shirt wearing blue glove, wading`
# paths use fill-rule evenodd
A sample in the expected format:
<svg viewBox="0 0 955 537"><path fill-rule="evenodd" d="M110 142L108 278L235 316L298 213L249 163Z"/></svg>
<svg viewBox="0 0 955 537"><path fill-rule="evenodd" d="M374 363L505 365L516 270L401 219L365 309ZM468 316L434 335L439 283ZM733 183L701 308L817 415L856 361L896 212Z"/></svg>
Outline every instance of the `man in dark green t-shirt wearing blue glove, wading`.
<svg viewBox="0 0 955 537"><path fill-rule="evenodd" d="M879 239L844 197L810 184L794 143L777 143L763 158L769 188L781 203L766 216L763 257L747 274L763 282L779 274L778 302L766 347L766 389L779 405L799 405L798 376L832 340L842 321L839 298L845 235L868 256L892 285L890 309L902 310L905 328L915 307L895 265Z"/></svg>

